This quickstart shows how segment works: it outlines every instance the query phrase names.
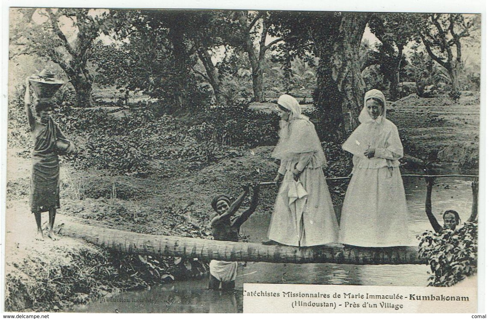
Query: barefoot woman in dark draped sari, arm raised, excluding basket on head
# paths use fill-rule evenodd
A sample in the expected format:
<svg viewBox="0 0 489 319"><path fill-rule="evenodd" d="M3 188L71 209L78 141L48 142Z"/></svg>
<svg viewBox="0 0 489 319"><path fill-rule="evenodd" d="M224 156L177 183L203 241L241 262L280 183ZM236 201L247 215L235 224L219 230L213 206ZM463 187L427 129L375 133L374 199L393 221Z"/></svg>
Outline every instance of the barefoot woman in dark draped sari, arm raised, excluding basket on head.
<svg viewBox="0 0 489 319"><path fill-rule="evenodd" d="M30 190L31 212L37 224L37 240L44 240L41 226L41 213L49 212L49 232L47 236L56 240L53 232L56 209L60 208L59 199L59 159L58 154L74 151L60 128L51 119L54 106L49 99L40 98L35 104L35 113L31 108L29 80L25 81L25 111L30 126L34 150L32 152L32 177Z"/></svg>

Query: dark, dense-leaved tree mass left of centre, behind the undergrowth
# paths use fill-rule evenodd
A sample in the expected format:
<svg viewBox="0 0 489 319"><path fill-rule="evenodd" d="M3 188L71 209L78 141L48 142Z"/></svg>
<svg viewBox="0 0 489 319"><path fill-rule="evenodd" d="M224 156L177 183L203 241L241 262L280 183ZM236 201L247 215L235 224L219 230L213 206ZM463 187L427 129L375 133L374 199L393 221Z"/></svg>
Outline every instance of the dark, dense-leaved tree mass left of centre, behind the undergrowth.
<svg viewBox="0 0 489 319"><path fill-rule="evenodd" d="M115 36L117 43L97 54L99 79L138 90L164 102L165 107L201 104L208 93L199 87L192 67L197 63L189 28L195 11L128 10L128 25Z"/></svg>

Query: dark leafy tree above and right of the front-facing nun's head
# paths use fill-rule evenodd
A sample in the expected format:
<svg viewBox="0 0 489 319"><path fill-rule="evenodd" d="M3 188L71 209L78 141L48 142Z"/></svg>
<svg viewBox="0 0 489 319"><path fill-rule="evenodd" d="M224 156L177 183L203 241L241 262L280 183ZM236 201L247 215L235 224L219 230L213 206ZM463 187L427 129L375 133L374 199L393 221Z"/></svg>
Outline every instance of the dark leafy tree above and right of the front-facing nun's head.
<svg viewBox="0 0 489 319"><path fill-rule="evenodd" d="M373 14L368 22L372 33L380 40L376 54L380 72L390 82L390 100L398 99L400 67L404 61L403 50L417 34L417 23L410 13Z"/></svg>

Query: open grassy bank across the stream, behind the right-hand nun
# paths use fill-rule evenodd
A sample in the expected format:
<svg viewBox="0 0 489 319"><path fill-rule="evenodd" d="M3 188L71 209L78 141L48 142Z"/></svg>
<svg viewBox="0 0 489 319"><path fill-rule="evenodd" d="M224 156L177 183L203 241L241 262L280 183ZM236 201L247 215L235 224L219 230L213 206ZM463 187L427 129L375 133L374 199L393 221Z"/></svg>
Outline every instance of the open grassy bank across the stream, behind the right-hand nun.
<svg viewBox="0 0 489 319"><path fill-rule="evenodd" d="M392 103L405 154L464 169L479 167L480 98L464 92L457 103L446 96L410 95Z"/></svg>

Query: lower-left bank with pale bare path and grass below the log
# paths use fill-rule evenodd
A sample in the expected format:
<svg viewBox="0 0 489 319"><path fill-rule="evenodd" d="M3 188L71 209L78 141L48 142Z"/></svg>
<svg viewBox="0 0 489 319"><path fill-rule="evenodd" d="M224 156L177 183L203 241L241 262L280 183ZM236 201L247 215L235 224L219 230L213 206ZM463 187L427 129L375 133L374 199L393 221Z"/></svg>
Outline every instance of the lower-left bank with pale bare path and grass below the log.
<svg viewBox="0 0 489 319"><path fill-rule="evenodd" d="M6 311L61 311L121 291L207 273L207 265L198 260L127 255L68 237L38 241L28 211L25 201L9 201ZM62 227L59 220L57 226Z"/></svg>

